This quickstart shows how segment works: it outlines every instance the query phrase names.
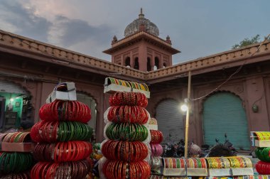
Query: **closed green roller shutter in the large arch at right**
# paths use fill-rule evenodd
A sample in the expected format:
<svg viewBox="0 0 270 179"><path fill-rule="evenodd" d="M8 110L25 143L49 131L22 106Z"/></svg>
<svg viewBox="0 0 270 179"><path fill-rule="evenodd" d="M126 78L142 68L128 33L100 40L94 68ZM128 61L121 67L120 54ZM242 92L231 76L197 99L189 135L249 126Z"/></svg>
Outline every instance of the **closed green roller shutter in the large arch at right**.
<svg viewBox="0 0 270 179"><path fill-rule="evenodd" d="M208 97L203 104L203 129L205 144L215 145L227 139L237 150L250 150L247 116L242 100L229 92L220 92Z"/></svg>

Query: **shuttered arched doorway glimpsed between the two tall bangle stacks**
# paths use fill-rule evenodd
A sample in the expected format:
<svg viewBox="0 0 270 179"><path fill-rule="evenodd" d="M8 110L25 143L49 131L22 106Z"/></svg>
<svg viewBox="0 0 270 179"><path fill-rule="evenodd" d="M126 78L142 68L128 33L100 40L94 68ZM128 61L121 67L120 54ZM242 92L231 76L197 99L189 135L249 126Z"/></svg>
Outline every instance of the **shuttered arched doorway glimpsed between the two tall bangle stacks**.
<svg viewBox="0 0 270 179"><path fill-rule="evenodd" d="M91 120L88 121L87 124L91 126L91 128L93 129L93 134L95 134L97 124L97 110L96 110L97 104L95 102L95 99L93 99L90 95L85 94L83 92L77 92L77 101L87 104L87 106L90 107Z"/></svg>

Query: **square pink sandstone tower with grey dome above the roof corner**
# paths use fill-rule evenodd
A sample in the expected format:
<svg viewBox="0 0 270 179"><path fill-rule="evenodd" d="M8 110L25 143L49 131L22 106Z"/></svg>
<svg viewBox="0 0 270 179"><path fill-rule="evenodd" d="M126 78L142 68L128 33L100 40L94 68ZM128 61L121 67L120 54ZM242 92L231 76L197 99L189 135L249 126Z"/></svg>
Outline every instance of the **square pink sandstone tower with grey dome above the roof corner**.
<svg viewBox="0 0 270 179"><path fill-rule="evenodd" d="M124 38L114 36L112 47L103 52L112 55L112 63L145 72L171 66L172 55L180 51L172 48L169 36L166 40L158 36L158 27L144 18L141 9L139 18L126 26Z"/></svg>

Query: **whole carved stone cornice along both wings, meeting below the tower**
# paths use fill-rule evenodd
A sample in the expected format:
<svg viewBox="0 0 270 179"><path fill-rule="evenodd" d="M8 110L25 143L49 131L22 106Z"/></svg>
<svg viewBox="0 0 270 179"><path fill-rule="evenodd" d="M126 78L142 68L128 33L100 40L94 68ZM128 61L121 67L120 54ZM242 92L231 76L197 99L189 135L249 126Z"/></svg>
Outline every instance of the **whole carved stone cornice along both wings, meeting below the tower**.
<svg viewBox="0 0 270 179"><path fill-rule="evenodd" d="M136 34L134 34L134 36L135 35ZM210 55L204 58L198 58L186 63L180 63L178 65L173 65L171 67L166 67L152 72L141 72L129 67L112 64L106 60L100 60L89 55L83 55L72 50L59 48L54 45L42 43L37 40L0 30L0 50L2 51L9 52L8 50L10 50L11 53L17 51L21 52L17 55L23 56L34 54L36 60L40 60L41 58L45 59L48 63L80 65L94 69L95 71L102 71L103 75L105 74L109 76L112 73L117 73L121 74L121 76L117 77L124 80L126 78L130 78L148 83L172 80L175 76L183 75L188 71L193 71L193 74L200 74L203 72L220 70L221 67L242 65L244 60L247 60L245 64L270 60L270 42L266 41L266 43L261 45L259 51L255 53L258 47L259 43L249 45L244 48L238 48L236 50L229 50L223 53Z"/></svg>

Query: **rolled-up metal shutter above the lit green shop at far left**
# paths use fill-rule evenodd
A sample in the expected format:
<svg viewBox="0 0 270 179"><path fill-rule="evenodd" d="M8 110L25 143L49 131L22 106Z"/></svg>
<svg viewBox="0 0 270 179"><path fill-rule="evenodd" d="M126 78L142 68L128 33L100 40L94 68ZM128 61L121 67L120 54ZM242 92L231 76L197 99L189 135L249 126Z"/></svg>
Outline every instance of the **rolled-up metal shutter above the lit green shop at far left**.
<svg viewBox="0 0 270 179"><path fill-rule="evenodd" d="M6 82L4 80L0 80L0 92L27 94L27 92L20 85L12 82Z"/></svg>

